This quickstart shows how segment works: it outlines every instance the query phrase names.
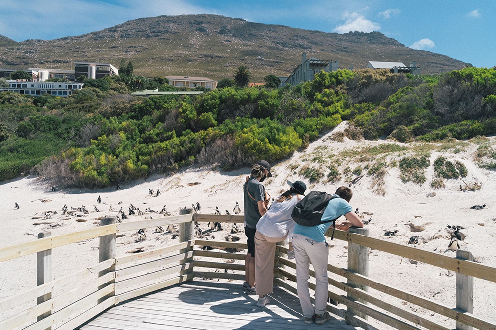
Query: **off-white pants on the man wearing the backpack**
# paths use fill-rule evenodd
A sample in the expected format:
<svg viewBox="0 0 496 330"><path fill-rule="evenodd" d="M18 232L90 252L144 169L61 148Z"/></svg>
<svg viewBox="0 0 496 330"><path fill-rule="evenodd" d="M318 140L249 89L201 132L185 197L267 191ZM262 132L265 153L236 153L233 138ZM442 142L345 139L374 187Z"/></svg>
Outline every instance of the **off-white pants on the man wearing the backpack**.
<svg viewBox="0 0 496 330"><path fill-rule="evenodd" d="M296 288L302 306L303 316L310 318L313 314L325 313L327 305L327 243L316 242L306 236L293 234L293 248L296 261ZM310 301L309 266L315 270L315 308Z"/></svg>

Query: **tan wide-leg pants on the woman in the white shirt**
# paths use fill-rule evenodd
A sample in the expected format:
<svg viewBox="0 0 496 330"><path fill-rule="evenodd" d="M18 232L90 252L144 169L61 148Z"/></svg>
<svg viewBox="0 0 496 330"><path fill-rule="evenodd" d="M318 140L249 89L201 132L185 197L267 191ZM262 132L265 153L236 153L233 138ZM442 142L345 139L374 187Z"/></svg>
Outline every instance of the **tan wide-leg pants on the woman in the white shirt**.
<svg viewBox="0 0 496 330"><path fill-rule="evenodd" d="M284 237L267 237L259 231L255 233L255 279L256 294L263 296L272 293L274 285L274 258L276 244L286 239Z"/></svg>

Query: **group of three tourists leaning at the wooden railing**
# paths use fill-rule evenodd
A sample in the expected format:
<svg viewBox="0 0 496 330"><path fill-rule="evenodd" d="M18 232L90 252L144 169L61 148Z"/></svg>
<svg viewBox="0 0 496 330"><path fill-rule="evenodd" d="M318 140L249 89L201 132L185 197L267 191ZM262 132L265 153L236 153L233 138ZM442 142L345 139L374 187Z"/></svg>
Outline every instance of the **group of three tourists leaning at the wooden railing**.
<svg viewBox="0 0 496 330"><path fill-rule="evenodd" d="M315 226L302 225L293 220L292 213L305 197L305 183L287 181L290 188L268 208L270 196L263 186L267 177L272 177L270 165L261 160L253 166L243 186L248 245L243 287L247 294L258 295L257 306L265 307L270 302L268 294L272 293L274 281L276 244L286 241L289 244L288 258L296 262L298 298L305 323L323 324L330 319L326 311L328 244L324 234L341 215L346 221L335 227L339 230L364 226L349 204L352 191L348 187L339 187L328 198L320 222ZM310 301L308 286L310 262L315 270L315 306Z"/></svg>

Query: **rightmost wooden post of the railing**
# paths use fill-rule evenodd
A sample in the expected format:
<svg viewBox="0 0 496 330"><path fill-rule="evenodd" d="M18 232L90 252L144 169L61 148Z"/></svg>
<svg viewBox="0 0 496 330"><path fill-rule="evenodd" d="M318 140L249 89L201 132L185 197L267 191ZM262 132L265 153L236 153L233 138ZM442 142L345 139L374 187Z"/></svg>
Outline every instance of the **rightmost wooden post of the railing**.
<svg viewBox="0 0 496 330"><path fill-rule="evenodd" d="M474 261L469 251L456 250L456 258ZM474 312L474 277L456 273L456 308L462 311ZM472 330L472 327L456 322L457 330Z"/></svg>

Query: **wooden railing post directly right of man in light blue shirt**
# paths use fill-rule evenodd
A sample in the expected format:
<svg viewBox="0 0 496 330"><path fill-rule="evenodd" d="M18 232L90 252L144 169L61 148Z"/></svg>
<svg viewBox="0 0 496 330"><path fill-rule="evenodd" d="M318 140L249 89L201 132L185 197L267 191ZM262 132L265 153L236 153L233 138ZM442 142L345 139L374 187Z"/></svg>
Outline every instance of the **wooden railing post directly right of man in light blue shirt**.
<svg viewBox="0 0 496 330"><path fill-rule="evenodd" d="M369 236L369 229L368 228L356 228L356 227L350 227L348 230L350 233L356 233L364 236ZM369 276L369 248L367 246L355 244L355 243L348 243L348 270L361 274L363 276ZM365 286L360 283L356 283L348 279L348 285L351 287L357 287L361 290L364 290L366 292L369 291L369 287ZM352 295L348 293L348 297L353 299ZM366 303L363 300L358 300L362 303ZM352 315L356 315L361 317L362 319L367 320L367 315L361 312L354 311L350 307L347 308L348 313ZM346 323L350 324L350 322L347 320Z"/></svg>

